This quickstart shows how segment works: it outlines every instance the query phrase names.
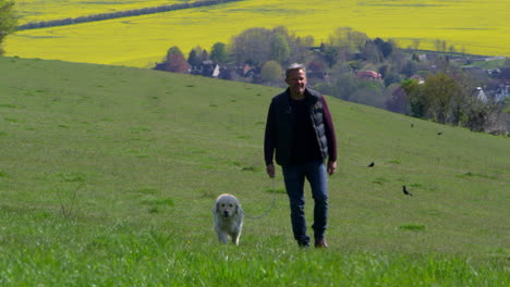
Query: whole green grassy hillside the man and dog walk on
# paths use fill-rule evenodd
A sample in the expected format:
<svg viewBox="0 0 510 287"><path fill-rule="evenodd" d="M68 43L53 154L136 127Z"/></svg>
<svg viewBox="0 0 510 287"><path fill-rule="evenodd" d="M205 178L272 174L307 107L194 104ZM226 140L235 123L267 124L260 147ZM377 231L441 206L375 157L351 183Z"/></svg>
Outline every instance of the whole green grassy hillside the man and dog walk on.
<svg viewBox="0 0 510 287"><path fill-rule="evenodd" d="M328 98L331 248L301 252L264 172L278 89L15 58L0 74L1 285L510 283L508 138ZM276 196L239 248L211 228L222 192L251 215Z"/></svg>

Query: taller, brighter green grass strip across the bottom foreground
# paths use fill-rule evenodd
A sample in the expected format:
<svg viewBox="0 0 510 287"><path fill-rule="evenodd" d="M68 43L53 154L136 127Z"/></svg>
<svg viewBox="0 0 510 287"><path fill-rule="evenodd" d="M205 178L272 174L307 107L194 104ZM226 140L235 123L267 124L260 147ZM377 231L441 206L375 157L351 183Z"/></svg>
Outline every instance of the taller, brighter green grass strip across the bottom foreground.
<svg viewBox="0 0 510 287"><path fill-rule="evenodd" d="M29 220L33 221L33 220ZM38 232L27 238L26 229ZM119 222L92 230L48 217L2 254L2 286L508 286L502 260L449 254L295 250L183 241ZM45 235L42 235L45 234ZM9 233L10 237L14 234ZM44 238L44 237L47 238ZM29 255L27 255L29 254Z"/></svg>

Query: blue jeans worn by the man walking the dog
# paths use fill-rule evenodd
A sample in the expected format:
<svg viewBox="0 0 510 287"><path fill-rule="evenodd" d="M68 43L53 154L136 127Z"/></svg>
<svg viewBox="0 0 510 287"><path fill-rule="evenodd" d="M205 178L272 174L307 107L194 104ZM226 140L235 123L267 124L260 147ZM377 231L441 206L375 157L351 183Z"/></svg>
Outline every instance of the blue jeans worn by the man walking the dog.
<svg viewBox="0 0 510 287"><path fill-rule="evenodd" d="M304 214L305 197L304 180L308 180L314 207L315 240L324 238L328 220L328 183L326 164L323 161L314 161L306 164L282 166L283 179L290 200L292 232L300 246L308 246L309 237L306 235L306 220Z"/></svg>

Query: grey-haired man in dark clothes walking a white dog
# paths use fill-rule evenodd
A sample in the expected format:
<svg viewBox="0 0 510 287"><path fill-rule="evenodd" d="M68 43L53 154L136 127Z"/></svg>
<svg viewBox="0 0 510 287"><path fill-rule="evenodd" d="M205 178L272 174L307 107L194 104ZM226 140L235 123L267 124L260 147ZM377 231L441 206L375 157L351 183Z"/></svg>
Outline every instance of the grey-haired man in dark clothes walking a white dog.
<svg viewBox="0 0 510 287"><path fill-rule="evenodd" d="M306 70L292 64L286 71L286 91L272 98L264 138L266 172L275 177L276 162L281 165L290 200L294 238L300 247L309 246L304 215L304 183L308 180L315 201L315 247L327 248L327 175L337 169L337 141L326 99L306 87ZM327 159L327 165L325 161Z"/></svg>

